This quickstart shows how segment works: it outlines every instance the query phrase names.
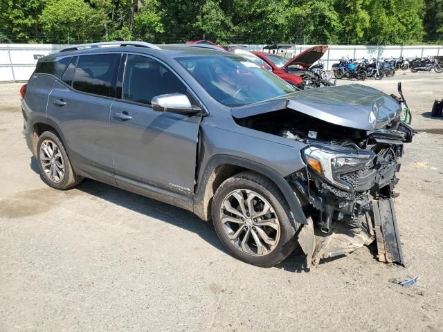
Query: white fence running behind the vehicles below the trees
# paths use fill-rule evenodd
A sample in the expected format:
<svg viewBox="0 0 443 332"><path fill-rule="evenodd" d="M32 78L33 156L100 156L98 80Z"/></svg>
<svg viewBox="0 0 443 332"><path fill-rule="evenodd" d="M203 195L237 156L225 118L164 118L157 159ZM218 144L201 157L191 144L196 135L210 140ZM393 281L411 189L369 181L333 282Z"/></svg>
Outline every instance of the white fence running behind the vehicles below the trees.
<svg viewBox="0 0 443 332"><path fill-rule="evenodd" d="M248 45L249 50L262 50L265 45ZM313 45L296 45L293 48L280 50L279 54L291 58ZM27 81L33 73L37 59L57 52L64 45L57 44L0 44L0 82ZM349 57L361 59L375 57L426 57L443 56L443 46L361 46L329 45L323 61L327 69L339 59Z"/></svg>

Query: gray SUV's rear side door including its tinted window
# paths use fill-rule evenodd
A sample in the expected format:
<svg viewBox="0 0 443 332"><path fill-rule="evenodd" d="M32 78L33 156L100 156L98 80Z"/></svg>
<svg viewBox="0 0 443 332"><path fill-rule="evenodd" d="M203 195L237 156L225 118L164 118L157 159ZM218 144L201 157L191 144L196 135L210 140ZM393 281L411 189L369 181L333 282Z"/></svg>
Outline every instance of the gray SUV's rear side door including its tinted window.
<svg viewBox="0 0 443 332"><path fill-rule="evenodd" d="M75 169L100 181L114 182L109 113L116 93L121 54L75 57L48 100ZM114 182L115 183L115 182Z"/></svg>

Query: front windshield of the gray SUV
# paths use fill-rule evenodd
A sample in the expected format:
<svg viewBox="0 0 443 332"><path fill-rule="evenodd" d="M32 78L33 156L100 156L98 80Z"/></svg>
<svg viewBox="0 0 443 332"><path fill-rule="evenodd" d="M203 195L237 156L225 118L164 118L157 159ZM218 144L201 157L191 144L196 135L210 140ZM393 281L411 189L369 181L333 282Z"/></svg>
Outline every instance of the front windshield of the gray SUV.
<svg viewBox="0 0 443 332"><path fill-rule="evenodd" d="M179 57L177 61L218 102L239 107L294 91L257 64L239 56Z"/></svg>

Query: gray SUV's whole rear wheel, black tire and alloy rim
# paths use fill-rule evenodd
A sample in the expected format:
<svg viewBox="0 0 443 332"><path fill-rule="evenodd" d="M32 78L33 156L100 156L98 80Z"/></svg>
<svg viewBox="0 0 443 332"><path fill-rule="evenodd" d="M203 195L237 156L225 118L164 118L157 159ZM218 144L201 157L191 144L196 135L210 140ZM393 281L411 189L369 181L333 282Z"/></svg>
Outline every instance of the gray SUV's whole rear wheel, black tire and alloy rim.
<svg viewBox="0 0 443 332"><path fill-rule="evenodd" d="M75 175L63 143L53 131L45 131L39 136L37 160L44 181L50 187L65 190L82 181Z"/></svg>

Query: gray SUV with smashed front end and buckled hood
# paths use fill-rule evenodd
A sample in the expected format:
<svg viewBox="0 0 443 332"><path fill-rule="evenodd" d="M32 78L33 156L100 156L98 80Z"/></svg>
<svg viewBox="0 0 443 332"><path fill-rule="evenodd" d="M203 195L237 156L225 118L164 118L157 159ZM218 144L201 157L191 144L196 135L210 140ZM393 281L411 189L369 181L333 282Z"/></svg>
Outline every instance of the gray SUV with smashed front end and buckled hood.
<svg viewBox="0 0 443 332"><path fill-rule="evenodd" d="M111 42L39 59L22 95L51 187L92 178L192 211L257 266L374 240L403 264L392 197L414 131L381 91L296 91L223 50Z"/></svg>

